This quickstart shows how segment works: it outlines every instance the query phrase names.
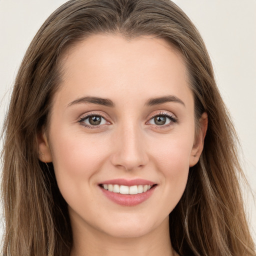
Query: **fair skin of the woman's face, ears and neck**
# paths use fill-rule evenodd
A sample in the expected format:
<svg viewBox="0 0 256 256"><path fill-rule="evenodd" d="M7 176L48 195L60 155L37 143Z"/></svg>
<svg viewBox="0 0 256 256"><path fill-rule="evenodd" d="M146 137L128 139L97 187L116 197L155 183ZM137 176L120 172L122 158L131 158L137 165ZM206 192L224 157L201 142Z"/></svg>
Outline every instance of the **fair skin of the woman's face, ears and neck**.
<svg viewBox="0 0 256 256"><path fill-rule="evenodd" d="M189 166L203 148L207 115L195 138L194 101L180 54L163 39L126 40L96 34L68 50L60 89L53 97L48 134L38 137L40 159L53 162L73 231L71 255L175 255L168 214L179 201ZM146 105L150 98L173 95ZM73 103L85 97L110 99L114 106ZM86 114L102 115L93 128ZM153 116L170 114L163 125ZM92 125L90 125L92 126ZM135 206L109 200L98 182L144 178L156 183ZM117 254L118 253L118 254Z"/></svg>

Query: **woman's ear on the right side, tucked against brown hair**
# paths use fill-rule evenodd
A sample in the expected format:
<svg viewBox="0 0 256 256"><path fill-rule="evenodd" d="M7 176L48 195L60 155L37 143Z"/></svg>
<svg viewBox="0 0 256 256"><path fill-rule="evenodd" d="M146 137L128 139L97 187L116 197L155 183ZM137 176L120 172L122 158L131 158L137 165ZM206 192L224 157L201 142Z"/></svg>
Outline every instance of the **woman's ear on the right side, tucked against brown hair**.
<svg viewBox="0 0 256 256"><path fill-rule="evenodd" d="M189 167L194 166L201 155L203 149L204 137L206 135L207 127L208 127L208 115L206 112L203 112L201 118L199 120L199 130L198 134L195 137L195 141L191 150L190 158L189 158Z"/></svg>

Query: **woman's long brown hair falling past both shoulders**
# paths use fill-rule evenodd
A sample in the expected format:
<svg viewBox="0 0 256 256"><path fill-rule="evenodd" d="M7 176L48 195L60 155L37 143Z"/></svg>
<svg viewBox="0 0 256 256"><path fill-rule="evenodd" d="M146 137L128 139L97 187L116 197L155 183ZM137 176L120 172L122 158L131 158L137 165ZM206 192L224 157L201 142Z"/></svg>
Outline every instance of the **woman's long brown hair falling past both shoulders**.
<svg viewBox="0 0 256 256"><path fill-rule="evenodd" d="M6 256L67 256L72 232L52 164L38 160L37 134L61 82L61 56L95 33L126 38L155 35L182 54L194 95L195 119L208 114L199 162L169 214L170 239L180 255L251 255L238 176L235 131L216 87L204 43L170 0L70 0L41 26L20 65L4 124L2 194Z"/></svg>

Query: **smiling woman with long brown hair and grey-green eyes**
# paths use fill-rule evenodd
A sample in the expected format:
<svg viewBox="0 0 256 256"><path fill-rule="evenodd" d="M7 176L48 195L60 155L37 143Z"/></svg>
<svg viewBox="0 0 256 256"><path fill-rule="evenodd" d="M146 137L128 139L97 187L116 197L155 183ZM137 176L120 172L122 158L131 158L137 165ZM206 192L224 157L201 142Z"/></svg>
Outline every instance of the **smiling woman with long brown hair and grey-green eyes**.
<svg viewBox="0 0 256 256"><path fill-rule="evenodd" d="M3 254L255 255L235 139L175 4L68 1L16 77Z"/></svg>

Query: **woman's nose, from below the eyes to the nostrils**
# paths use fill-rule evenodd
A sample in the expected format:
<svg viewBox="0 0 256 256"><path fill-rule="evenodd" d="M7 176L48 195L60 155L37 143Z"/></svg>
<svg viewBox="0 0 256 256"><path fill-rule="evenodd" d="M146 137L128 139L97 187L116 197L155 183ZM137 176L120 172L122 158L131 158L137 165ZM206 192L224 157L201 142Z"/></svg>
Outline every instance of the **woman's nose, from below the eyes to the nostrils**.
<svg viewBox="0 0 256 256"><path fill-rule="evenodd" d="M137 125L120 127L115 134L111 163L125 170L134 170L148 162L146 141Z"/></svg>

